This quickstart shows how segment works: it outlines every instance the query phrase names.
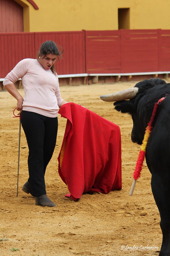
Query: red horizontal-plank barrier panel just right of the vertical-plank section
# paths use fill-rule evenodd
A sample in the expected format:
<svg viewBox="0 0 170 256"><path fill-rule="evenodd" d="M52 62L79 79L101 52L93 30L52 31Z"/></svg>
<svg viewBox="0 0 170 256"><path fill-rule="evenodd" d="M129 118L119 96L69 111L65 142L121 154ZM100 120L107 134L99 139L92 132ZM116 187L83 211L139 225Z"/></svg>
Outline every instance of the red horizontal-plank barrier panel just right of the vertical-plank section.
<svg viewBox="0 0 170 256"><path fill-rule="evenodd" d="M86 31L86 72L121 73L121 31Z"/></svg>

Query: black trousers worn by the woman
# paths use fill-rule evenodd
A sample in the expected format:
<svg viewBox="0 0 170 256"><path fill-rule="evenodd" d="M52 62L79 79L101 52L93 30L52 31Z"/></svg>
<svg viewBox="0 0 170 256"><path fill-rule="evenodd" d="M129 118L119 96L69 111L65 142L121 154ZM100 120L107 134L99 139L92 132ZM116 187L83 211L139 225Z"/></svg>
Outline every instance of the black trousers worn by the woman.
<svg viewBox="0 0 170 256"><path fill-rule="evenodd" d="M58 119L23 110L21 124L29 148L28 182L31 194L41 196L46 194L44 175L55 149Z"/></svg>

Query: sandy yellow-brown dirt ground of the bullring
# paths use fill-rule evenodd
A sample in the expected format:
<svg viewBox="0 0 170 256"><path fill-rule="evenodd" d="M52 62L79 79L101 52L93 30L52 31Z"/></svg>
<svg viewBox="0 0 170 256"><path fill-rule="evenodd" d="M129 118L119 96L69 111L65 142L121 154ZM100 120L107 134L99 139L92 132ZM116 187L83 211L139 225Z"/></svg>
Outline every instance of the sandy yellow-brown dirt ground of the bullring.
<svg viewBox="0 0 170 256"><path fill-rule="evenodd" d="M158 255L162 242L160 216L151 192L151 175L146 162L133 196L129 196L140 149L139 145L131 142L131 116L114 110L111 102L100 100L101 94L135 84L61 86L65 100L82 104L119 125L122 190L109 194L84 194L78 202L64 197L68 190L58 174L57 157L66 119L59 115L57 144L45 175L47 195L57 204L53 208L35 206L35 199L21 190L28 178L28 148L22 128L16 196L19 118L12 118L16 100L8 92L0 92L0 256ZM20 93L24 95L23 89ZM148 249L154 246L157 248Z"/></svg>

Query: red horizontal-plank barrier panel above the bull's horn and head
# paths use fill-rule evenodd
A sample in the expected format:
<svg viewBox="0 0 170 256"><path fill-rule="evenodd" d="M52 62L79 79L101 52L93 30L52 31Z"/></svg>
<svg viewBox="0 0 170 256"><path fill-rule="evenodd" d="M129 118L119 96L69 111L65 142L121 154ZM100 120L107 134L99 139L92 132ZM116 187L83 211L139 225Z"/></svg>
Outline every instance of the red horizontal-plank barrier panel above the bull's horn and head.
<svg viewBox="0 0 170 256"><path fill-rule="evenodd" d="M122 30L122 73L158 69L158 30Z"/></svg>

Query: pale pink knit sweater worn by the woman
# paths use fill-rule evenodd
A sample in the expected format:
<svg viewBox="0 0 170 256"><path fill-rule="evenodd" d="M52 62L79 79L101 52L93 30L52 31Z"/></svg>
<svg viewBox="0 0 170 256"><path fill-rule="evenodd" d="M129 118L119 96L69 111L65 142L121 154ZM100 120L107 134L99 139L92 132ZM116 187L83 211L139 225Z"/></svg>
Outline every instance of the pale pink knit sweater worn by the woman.
<svg viewBox="0 0 170 256"><path fill-rule="evenodd" d="M22 79L25 96L23 110L48 117L56 117L63 99L59 79L51 70L45 70L36 59L24 59L4 79L4 86Z"/></svg>

